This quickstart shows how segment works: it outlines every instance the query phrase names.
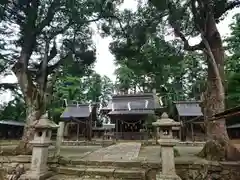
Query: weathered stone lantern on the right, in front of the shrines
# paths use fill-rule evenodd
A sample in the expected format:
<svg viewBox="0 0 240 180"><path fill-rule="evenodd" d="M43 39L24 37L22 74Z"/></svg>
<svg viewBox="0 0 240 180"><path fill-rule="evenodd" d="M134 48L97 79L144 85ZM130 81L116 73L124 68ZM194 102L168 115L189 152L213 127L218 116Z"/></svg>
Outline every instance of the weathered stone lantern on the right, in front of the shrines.
<svg viewBox="0 0 240 180"><path fill-rule="evenodd" d="M178 140L173 139L173 127L179 127L180 123L168 118L167 113L163 113L161 119L153 123L153 126L159 128L160 139L158 143L161 146L162 172L158 180L180 180L176 174L174 150L173 147Z"/></svg>

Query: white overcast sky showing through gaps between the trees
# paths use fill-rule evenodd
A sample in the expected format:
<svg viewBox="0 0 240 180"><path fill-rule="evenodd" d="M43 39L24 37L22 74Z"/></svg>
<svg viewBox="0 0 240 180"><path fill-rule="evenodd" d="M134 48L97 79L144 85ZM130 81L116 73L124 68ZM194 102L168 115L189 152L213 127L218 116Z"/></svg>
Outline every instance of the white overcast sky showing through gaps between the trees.
<svg viewBox="0 0 240 180"><path fill-rule="evenodd" d="M124 4L121 6L120 9L137 9L137 2L136 0L125 0ZM222 37L229 35L230 28L229 25L232 23L232 17L239 12L238 9L234 9L233 11L229 12L227 17L218 24L218 29ZM97 49L97 62L95 64L95 70L100 75L106 75L111 80L115 81L115 65L114 65L114 56L109 51L109 44L112 41L111 37L102 38L97 32L94 34L93 37L94 43L96 44ZM190 39L189 42L191 45L198 43L199 39ZM14 82L16 78L13 76L7 76L6 78L0 78L0 82ZM0 104L1 101L6 101L10 99L11 95L8 93L4 93L0 95Z"/></svg>

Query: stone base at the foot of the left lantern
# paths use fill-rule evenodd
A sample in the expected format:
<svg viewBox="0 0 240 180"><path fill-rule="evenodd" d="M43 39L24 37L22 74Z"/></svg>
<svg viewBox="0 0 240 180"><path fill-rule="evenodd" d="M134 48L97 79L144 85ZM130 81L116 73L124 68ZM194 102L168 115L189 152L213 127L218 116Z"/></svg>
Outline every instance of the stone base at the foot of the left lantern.
<svg viewBox="0 0 240 180"><path fill-rule="evenodd" d="M53 176L53 172L50 171L41 174L28 171L26 174L23 174L19 180L45 180L51 176Z"/></svg>

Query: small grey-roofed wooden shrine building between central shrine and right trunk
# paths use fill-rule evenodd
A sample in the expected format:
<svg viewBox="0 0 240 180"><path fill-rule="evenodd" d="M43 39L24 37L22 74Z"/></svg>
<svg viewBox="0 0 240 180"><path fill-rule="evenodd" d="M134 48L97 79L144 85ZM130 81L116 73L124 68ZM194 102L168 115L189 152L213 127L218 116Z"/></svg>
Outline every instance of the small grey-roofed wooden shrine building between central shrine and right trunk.
<svg viewBox="0 0 240 180"><path fill-rule="evenodd" d="M181 123L179 138L182 141L204 141L205 126L200 101L175 101L170 112Z"/></svg>

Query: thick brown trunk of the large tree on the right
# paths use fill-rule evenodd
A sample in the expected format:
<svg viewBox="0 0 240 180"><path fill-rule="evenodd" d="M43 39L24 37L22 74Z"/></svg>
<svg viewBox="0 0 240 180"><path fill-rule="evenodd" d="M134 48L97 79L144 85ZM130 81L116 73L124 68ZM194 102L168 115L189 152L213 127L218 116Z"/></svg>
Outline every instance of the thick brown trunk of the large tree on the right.
<svg viewBox="0 0 240 180"><path fill-rule="evenodd" d="M225 110L225 55L213 15L209 16L206 25L205 48L208 60L208 78L203 108L208 141L199 155L209 160L236 160L240 158L240 153L229 142L225 119L209 121L215 114ZM218 69L218 72L216 69Z"/></svg>

